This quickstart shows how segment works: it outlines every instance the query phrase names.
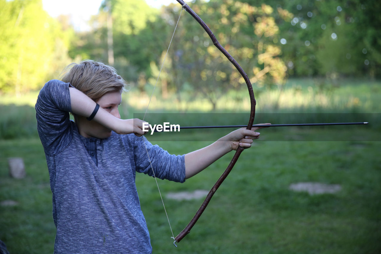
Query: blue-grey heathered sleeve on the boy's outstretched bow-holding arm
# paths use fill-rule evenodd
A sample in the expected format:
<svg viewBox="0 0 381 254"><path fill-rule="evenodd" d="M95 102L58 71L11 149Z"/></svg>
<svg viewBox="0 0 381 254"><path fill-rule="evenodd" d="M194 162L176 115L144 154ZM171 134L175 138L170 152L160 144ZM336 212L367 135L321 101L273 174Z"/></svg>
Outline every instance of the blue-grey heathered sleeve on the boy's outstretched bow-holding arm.
<svg viewBox="0 0 381 254"><path fill-rule="evenodd" d="M144 136L133 136L136 172L154 176L153 168L157 178L185 182L185 155L170 154L158 145L152 145Z"/></svg>

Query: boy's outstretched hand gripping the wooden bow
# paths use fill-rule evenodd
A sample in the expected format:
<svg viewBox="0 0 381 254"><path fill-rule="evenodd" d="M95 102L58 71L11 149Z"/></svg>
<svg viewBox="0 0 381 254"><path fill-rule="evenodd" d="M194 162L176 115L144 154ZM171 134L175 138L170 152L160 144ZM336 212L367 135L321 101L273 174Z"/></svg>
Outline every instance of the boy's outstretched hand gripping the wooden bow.
<svg viewBox="0 0 381 254"><path fill-rule="evenodd" d="M267 124L270 124L270 123L267 123ZM232 150L237 150L239 146L242 146L243 148L249 148L251 147L253 140L258 139L259 135L261 134L259 132L256 132L256 130L259 130L262 128L267 128L267 127L255 127L255 125L253 125L251 130L247 130L246 128L241 128L229 133L225 137L221 138L220 141L230 141Z"/></svg>

